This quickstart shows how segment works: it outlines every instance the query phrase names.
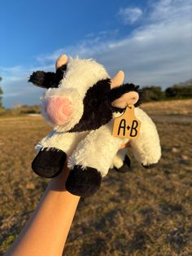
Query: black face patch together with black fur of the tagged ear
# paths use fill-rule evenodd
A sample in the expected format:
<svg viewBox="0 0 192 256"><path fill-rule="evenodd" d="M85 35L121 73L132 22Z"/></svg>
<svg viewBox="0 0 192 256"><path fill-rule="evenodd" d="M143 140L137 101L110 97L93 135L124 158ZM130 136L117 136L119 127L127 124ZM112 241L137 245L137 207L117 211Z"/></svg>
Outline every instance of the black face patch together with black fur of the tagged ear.
<svg viewBox="0 0 192 256"><path fill-rule="evenodd" d="M91 86L85 94L83 100L84 113L76 126L68 132L96 130L99 127L111 121L113 112L124 112L125 108L115 108L111 106L111 102L120 98L129 91L137 91L139 99L135 107L142 102L142 90L139 86L133 84L124 84L118 88L111 90L111 80L100 80L94 86Z"/></svg>

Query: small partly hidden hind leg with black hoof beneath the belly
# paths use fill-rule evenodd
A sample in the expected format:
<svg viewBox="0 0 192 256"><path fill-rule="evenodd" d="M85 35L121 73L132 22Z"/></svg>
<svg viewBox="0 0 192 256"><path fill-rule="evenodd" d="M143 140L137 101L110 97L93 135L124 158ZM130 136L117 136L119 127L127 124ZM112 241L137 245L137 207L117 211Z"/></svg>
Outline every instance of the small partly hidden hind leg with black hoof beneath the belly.
<svg viewBox="0 0 192 256"><path fill-rule="evenodd" d="M113 164L111 168L114 168L116 171L120 173L125 173L129 171L129 167L131 165L131 161L127 155L128 148L121 149L117 152L116 157L113 159Z"/></svg>

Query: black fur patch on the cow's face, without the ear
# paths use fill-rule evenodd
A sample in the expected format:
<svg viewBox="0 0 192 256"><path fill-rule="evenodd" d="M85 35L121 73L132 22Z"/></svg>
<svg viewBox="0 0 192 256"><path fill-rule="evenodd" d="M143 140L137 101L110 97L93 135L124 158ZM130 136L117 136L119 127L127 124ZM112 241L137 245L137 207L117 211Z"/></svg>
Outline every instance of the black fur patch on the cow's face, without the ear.
<svg viewBox="0 0 192 256"><path fill-rule="evenodd" d="M91 86L83 100L84 113L76 126L69 132L95 130L107 124L112 118L112 107L108 97L111 80L100 80Z"/></svg>

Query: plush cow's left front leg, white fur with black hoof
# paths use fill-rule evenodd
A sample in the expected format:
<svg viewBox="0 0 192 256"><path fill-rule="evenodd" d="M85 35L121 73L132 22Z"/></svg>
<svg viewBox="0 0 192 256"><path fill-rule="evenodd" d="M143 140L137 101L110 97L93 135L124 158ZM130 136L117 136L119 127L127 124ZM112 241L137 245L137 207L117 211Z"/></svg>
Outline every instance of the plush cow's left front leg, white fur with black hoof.
<svg viewBox="0 0 192 256"><path fill-rule="evenodd" d="M63 170L67 155L72 153L82 133L52 131L37 144L37 156L32 163L33 171L41 177L53 178ZM84 138L84 137L83 137Z"/></svg>

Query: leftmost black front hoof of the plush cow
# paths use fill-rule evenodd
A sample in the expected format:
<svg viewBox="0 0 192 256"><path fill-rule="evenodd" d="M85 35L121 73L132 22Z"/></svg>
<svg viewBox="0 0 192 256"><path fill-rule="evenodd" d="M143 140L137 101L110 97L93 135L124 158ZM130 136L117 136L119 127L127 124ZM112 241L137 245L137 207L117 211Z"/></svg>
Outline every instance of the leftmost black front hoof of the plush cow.
<svg viewBox="0 0 192 256"><path fill-rule="evenodd" d="M32 162L33 171L44 178L54 178L63 170L66 153L57 148L43 148Z"/></svg>

